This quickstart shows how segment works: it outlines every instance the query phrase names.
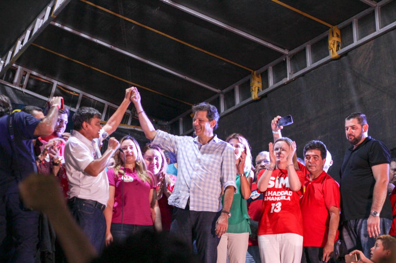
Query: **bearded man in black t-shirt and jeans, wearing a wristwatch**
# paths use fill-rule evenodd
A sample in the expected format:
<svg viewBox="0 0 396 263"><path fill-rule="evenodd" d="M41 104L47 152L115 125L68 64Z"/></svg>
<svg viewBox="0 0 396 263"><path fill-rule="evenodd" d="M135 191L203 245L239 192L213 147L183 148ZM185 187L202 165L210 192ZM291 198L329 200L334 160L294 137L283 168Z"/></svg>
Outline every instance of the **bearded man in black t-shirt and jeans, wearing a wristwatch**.
<svg viewBox="0 0 396 263"><path fill-rule="evenodd" d="M375 237L388 234L392 209L387 197L390 152L384 143L367 135L366 115L345 118L346 139L352 144L341 166L341 215L348 252L370 256Z"/></svg>

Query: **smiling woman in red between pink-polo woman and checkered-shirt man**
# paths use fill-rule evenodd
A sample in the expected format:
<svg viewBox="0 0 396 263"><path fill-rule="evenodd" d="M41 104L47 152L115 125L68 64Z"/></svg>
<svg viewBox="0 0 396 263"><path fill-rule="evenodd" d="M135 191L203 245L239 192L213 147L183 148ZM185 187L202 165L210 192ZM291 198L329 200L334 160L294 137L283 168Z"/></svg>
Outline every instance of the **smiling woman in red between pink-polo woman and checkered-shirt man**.
<svg viewBox="0 0 396 263"><path fill-rule="evenodd" d="M148 143L143 147L142 152L147 170L154 176L158 206L161 211L162 230L169 231L171 229L173 207L168 204L168 197L173 192L176 177L166 173L168 164L166 163L164 152L158 145Z"/></svg>

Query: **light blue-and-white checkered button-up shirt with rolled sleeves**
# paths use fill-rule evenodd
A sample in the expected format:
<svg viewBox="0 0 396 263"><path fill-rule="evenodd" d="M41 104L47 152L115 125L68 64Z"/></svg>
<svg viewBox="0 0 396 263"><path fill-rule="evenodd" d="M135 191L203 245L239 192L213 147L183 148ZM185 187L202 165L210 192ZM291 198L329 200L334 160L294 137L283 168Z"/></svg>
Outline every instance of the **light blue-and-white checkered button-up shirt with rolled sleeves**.
<svg viewBox="0 0 396 263"><path fill-rule="evenodd" d="M232 146L217 138L202 145L198 137L176 136L158 130L153 143L176 154L177 180L169 205L190 210L221 210L221 190L235 184L235 154Z"/></svg>

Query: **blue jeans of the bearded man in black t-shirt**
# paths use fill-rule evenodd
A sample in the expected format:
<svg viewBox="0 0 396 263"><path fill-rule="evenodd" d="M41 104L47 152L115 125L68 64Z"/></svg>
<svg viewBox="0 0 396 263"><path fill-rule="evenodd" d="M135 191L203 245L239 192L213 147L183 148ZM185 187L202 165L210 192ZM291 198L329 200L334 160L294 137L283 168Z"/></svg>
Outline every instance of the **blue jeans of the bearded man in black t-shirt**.
<svg viewBox="0 0 396 263"><path fill-rule="evenodd" d="M380 235L387 235L390 230L390 225L392 225L392 220L387 218L380 218L380 220ZM345 221L342 233L348 252L358 249L361 250L367 258L370 258L370 249L375 244L375 237L369 237L367 233L367 218Z"/></svg>

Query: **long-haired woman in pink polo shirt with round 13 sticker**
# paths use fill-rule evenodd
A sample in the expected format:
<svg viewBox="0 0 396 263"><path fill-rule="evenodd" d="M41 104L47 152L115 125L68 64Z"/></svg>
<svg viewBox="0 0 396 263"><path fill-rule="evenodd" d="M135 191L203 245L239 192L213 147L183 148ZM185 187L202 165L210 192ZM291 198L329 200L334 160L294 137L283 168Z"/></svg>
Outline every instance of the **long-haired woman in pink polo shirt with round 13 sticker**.
<svg viewBox="0 0 396 263"><path fill-rule="evenodd" d="M107 171L106 245L122 242L143 229L162 231L155 180L147 171L139 144L128 135L121 139L120 149L114 154L115 167Z"/></svg>

